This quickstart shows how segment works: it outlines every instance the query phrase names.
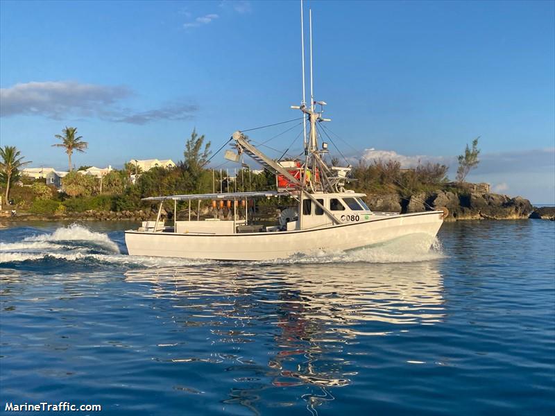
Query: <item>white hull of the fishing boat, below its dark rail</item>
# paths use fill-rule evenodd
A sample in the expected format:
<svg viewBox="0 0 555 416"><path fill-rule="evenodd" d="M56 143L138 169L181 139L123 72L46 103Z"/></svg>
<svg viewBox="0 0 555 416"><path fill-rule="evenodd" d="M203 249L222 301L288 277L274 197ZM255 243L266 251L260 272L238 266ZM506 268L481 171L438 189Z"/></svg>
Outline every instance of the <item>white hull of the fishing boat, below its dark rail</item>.
<svg viewBox="0 0 555 416"><path fill-rule="evenodd" d="M375 216L366 222L318 229L248 234L175 234L126 231L130 255L214 260L287 259L295 254L355 250L404 236L420 235L432 244L441 224L442 211Z"/></svg>

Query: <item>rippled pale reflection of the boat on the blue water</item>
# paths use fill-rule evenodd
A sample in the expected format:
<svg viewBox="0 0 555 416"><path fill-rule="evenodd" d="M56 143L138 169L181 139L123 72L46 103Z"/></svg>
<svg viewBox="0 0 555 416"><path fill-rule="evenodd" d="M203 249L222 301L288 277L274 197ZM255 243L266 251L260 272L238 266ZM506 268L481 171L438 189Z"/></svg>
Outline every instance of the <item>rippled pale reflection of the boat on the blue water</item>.
<svg viewBox="0 0 555 416"><path fill-rule="evenodd" d="M225 403L251 410L259 390L309 385L302 399L314 411L334 399L328 388L348 385L357 376L350 365L356 352L345 346L357 344L359 337L392 336L407 331L407 325L444 318L443 281L434 262L166 267L128 270L125 277L148 286L143 296L164 311L164 324L206 330L206 347L196 345L203 354L183 356L182 350L167 348L155 359L232 362L225 371L238 386ZM253 345L244 349L246 343ZM268 358L249 355L258 349Z"/></svg>

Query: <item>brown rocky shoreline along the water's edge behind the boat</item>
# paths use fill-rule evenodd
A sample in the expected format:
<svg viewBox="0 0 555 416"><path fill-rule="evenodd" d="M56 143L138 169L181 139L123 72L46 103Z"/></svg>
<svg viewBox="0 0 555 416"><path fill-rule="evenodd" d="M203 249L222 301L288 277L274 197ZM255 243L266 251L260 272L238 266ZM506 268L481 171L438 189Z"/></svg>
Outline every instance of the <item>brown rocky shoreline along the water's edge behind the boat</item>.
<svg viewBox="0 0 555 416"><path fill-rule="evenodd" d="M370 194L366 204L373 211L400 212L402 214L447 208L447 221L456 220L520 220L547 219L555 220L555 207L533 207L529 200L516 196L511 198L498 193L472 192L454 193L451 191L434 191L417 193L409 198L402 198L398 193ZM205 208L202 216L210 215ZM271 210L270 210L271 211ZM165 214L165 212L164 212ZM196 214L195 214L196 215ZM95 211L67 212L59 215L41 215L18 213L10 216L8 211L0 212L0 223L6 221L26 220L80 220L80 221L133 221L152 220L156 216L155 209L139 211ZM268 213L268 217L273 214Z"/></svg>

